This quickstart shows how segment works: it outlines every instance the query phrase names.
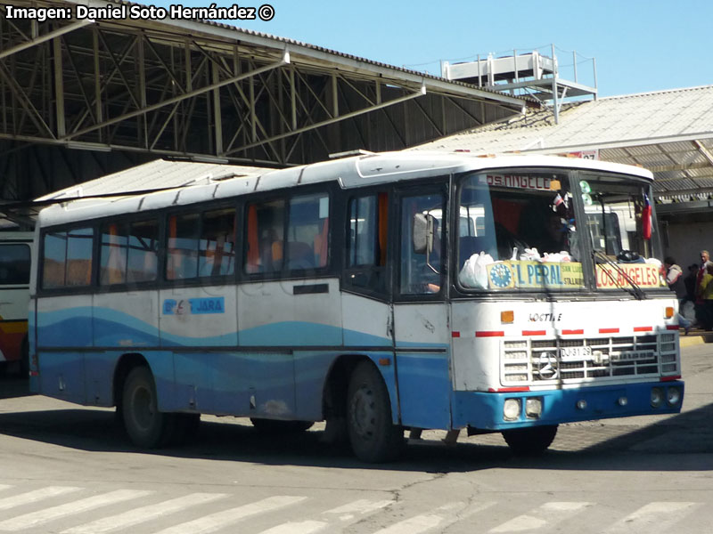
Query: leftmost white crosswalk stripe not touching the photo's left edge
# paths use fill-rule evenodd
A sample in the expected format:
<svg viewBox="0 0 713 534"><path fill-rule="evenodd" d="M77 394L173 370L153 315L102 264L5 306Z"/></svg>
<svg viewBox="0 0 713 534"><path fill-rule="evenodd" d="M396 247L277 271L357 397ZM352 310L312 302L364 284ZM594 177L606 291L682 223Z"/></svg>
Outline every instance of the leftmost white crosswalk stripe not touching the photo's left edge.
<svg viewBox="0 0 713 534"><path fill-rule="evenodd" d="M94 522L72 527L71 529L63 530L61 534L102 534L113 530L126 529L191 506L203 505L225 497L227 497L225 493L192 493L185 497L174 498L155 505L142 506L141 508L129 510L124 514L112 515L111 517L104 517Z"/></svg>

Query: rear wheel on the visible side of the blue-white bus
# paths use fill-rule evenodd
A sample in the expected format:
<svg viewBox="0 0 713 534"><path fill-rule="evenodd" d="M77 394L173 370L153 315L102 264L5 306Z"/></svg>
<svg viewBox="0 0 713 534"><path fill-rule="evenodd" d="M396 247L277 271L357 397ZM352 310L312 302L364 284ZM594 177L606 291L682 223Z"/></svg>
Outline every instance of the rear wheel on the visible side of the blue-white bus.
<svg viewBox="0 0 713 534"><path fill-rule="evenodd" d="M138 366L124 381L121 414L129 439L142 449L163 446L174 435L172 414L160 412L151 370Z"/></svg>

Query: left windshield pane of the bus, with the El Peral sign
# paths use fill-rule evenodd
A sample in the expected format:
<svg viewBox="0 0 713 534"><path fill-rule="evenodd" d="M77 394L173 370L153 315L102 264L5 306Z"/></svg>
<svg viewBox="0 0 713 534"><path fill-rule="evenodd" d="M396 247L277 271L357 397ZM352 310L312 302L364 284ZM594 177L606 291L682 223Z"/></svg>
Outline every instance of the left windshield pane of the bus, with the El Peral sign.
<svg viewBox="0 0 713 534"><path fill-rule="evenodd" d="M460 285L476 290L583 288L572 199L570 179L563 173L466 176L458 224Z"/></svg>

